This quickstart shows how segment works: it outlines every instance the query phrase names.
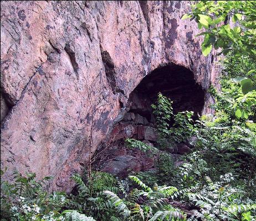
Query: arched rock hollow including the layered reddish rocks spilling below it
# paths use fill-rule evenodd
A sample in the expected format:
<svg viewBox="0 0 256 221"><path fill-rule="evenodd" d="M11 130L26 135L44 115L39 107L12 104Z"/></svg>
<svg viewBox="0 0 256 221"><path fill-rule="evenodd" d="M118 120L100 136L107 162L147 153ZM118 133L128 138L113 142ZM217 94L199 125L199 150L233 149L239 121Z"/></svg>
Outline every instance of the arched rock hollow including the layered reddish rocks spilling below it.
<svg viewBox="0 0 256 221"><path fill-rule="evenodd" d="M125 139L135 138L154 145L157 139L155 117L151 104L161 92L173 101L173 113L193 111L201 114L205 92L194 80L193 72L186 67L168 64L159 67L147 75L130 94L126 105L127 113L117 122L106 142L105 154L112 160L110 166L105 162L105 171L126 176L127 170L145 171L154 166L154 160L148 159L139 150L127 150ZM186 144L177 144L172 154L184 154L190 148Z"/></svg>

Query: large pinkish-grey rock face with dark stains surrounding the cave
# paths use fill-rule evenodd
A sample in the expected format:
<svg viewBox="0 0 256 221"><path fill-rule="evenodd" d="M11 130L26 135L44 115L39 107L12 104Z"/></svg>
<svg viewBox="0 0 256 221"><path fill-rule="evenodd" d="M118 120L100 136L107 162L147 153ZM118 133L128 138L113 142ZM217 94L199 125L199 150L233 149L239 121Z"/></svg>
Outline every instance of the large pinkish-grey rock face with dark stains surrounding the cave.
<svg viewBox="0 0 256 221"><path fill-rule="evenodd" d="M125 114L130 93L157 67L216 83L187 1L1 1L1 167L70 191L70 175ZM207 97L208 95L206 95ZM207 106L204 106L207 112ZM91 117L93 116L93 123Z"/></svg>

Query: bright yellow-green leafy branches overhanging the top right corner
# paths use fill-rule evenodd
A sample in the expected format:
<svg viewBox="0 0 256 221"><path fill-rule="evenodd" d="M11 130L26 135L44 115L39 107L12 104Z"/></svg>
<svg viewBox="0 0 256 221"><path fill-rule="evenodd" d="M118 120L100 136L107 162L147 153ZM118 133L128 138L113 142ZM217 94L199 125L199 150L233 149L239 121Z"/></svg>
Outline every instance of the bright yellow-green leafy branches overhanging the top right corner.
<svg viewBox="0 0 256 221"><path fill-rule="evenodd" d="M194 1L192 11L183 19L195 19L203 31L202 53L207 56L212 48L221 48L219 54L232 51L234 58L242 55L256 58L256 4L254 1ZM238 25L226 23L228 18Z"/></svg>

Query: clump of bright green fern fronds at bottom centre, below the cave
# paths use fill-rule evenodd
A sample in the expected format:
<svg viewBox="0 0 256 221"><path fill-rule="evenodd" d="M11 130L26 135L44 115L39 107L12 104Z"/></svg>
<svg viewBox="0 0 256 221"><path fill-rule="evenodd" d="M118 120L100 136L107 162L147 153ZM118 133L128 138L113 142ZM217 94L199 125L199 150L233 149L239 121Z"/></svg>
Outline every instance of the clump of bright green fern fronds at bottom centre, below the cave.
<svg viewBox="0 0 256 221"><path fill-rule="evenodd" d="M115 208L115 216L110 220L184 220L180 211L167 203L165 197L170 197L177 192L175 187L148 187L136 176L129 176L143 190L134 189L129 193L128 200L120 199L111 191L104 191L111 207ZM146 196L145 204L137 203L137 199Z"/></svg>

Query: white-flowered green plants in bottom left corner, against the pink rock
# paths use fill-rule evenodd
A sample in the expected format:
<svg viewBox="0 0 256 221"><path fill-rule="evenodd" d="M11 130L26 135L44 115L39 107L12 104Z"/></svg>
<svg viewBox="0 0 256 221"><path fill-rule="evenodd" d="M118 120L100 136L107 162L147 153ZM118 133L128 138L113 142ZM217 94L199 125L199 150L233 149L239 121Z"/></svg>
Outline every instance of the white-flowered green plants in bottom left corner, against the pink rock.
<svg viewBox="0 0 256 221"><path fill-rule="evenodd" d="M68 202L66 193L47 193L50 177L35 181L35 173L26 175L14 170L13 184L1 178L1 220L64 220L60 210Z"/></svg>

